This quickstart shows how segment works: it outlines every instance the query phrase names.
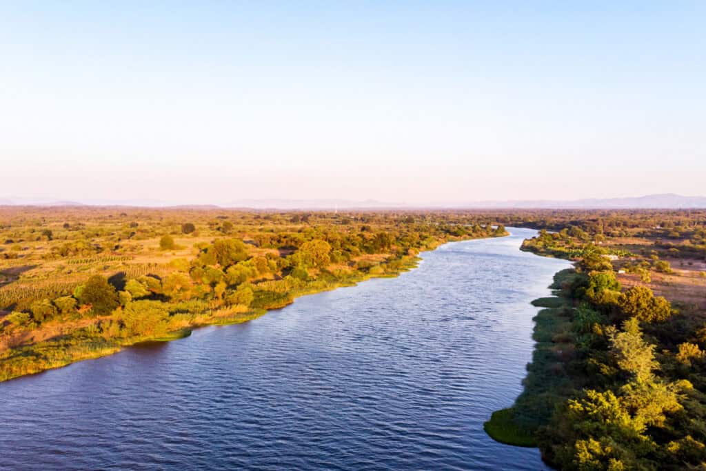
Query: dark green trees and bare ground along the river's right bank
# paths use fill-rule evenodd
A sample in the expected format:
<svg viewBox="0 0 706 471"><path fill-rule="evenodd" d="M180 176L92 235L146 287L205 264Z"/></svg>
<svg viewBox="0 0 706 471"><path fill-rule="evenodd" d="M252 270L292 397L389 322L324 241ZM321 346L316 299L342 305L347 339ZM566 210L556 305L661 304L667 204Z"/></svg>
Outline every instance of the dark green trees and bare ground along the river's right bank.
<svg viewBox="0 0 706 471"><path fill-rule="evenodd" d="M575 269L534 302L549 309L535 318L525 390L486 431L531 436L563 470L705 469L703 212L580 215L528 223L556 232L524 250Z"/></svg>

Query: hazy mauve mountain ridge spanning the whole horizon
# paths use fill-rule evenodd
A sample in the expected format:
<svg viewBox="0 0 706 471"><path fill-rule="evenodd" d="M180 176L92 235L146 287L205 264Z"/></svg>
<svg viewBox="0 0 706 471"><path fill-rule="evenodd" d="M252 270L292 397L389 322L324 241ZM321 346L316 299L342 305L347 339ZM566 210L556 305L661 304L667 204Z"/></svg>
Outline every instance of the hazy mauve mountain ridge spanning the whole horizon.
<svg viewBox="0 0 706 471"><path fill-rule="evenodd" d="M622 198L580 198L575 200L486 200L466 203L437 203L413 205L389 203L375 199L360 201L344 198L244 198L227 204L173 203L156 199L69 201L55 198L0 198L5 206L124 206L139 208L241 208L280 210L324 209L698 209L706 208L706 196L682 196L676 193L657 193Z"/></svg>

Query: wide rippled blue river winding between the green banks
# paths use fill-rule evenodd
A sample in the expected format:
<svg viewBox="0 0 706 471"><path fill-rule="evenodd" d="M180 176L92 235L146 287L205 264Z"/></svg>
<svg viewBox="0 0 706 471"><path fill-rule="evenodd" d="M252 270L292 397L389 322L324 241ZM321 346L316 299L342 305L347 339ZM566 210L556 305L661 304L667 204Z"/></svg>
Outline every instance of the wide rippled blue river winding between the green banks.
<svg viewBox="0 0 706 471"><path fill-rule="evenodd" d="M0 383L0 469L545 469L483 431L520 393L530 301L568 267L510 231L255 321Z"/></svg>

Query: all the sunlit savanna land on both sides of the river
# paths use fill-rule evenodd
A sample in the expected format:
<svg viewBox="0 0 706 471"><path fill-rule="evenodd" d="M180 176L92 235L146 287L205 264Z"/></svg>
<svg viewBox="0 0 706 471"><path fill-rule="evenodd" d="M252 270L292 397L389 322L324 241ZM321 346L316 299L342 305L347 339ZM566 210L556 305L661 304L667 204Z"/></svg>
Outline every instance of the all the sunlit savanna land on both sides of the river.
<svg viewBox="0 0 706 471"><path fill-rule="evenodd" d="M706 463L702 210L246 211L1 208L0 378L295 298L395 276L445 242L539 229L523 251L566 258L537 299L532 363L486 431L560 469Z"/></svg>

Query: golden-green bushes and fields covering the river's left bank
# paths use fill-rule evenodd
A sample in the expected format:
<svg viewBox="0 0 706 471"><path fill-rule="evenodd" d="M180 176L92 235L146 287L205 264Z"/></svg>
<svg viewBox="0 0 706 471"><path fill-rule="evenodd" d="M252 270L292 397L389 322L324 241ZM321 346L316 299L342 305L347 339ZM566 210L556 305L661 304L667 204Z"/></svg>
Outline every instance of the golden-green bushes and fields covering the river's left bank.
<svg viewBox="0 0 706 471"><path fill-rule="evenodd" d="M0 208L0 381L394 276L487 215Z"/></svg>

